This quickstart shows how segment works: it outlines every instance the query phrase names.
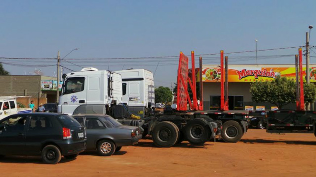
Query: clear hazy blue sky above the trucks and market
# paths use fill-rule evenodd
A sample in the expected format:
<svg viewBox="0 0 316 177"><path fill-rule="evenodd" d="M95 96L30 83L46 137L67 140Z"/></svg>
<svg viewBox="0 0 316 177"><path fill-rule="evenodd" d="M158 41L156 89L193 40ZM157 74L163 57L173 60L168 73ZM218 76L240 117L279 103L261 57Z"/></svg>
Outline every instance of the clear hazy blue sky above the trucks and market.
<svg viewBox="0 0 316 177"><path fill-rule="evenodd" d="M258 39L258 50L272 49L305 45L308 26L316 27L315 0L0 0L0 4L0 57L55 58L59 50L63 58L77 47L80 49L68 59L178 56L180 51L190 54L192 50L210 54L255 50L254 39ZM313 30L311 45L316 45ZM258 56L296 53L297 48L258 52ZM316 56L313 52L311 55ZM229 55L233 56L238 55ZM158 60L69 61L98 69L108 69L110 62L109 68L114 71L124 65L124 69L154 72ZM160 60L155 85L169 87L176 79L177 59ZM56 64L54 60L0 61L35 65L4 64L16 75L35 68L48 76L56 72L55 66L36 66ZM264 64L293 62L293 57L258 60ZM62 65L81 69L65 61Z"/></svg>

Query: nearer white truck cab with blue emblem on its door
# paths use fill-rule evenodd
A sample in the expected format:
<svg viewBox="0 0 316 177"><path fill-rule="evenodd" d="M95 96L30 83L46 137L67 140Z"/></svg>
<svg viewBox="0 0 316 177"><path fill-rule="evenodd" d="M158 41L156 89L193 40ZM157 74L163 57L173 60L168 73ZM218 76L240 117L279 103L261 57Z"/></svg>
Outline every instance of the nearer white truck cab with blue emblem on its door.
<svg viewBox="0 0 316 177"><path fill-rule="evenodd" d="M58 113L106 114L106 108L122 102L122 80L118 73L83 68L63 75Z"/></svg>

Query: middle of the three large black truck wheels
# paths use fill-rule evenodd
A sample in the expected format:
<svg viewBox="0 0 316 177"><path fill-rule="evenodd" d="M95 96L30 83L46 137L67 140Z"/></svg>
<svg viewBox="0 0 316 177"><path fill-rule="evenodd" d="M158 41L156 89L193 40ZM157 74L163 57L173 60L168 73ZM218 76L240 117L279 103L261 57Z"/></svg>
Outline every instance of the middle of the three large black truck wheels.
<svg viewBox="0 0 316 177"><path fill-rule="evenodd" d="M211 129L207 121L202 118L195 118L190 120L185 128L185 136L191 144L204 144L210 140Z"/></svg>

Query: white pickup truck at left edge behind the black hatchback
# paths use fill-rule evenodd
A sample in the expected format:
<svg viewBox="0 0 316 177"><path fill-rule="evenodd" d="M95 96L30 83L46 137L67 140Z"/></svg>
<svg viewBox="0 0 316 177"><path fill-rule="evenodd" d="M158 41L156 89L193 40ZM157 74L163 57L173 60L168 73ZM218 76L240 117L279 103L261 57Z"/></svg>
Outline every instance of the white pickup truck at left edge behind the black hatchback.
<svg viewBox="0 0 316 177"><path fill-rule="evenodd" d="M17 108L16 98L30 96L0 96L0 120L13 114L32 113L31 108Z"/></svg>

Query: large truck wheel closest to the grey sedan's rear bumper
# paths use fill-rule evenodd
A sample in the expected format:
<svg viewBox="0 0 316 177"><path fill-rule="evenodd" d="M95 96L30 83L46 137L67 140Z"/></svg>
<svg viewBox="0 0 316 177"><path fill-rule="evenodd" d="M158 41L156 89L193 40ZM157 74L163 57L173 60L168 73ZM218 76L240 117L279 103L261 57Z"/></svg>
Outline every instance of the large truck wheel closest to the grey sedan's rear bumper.
<svg viewBox="0 0 316 177"><path fill-rule="evenodd" d="M170 121L163 121L155 125L153 129L153 141L157 147L172 147L178 140L176 125Z"/></svg>

